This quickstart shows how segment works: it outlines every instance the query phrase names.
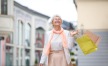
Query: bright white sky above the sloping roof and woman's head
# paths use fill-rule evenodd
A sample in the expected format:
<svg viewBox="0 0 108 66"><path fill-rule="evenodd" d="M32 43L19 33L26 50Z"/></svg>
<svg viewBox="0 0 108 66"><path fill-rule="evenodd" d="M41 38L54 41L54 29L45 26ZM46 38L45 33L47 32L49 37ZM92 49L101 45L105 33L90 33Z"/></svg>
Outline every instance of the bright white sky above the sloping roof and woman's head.
<svg viewBox="0 0 108 66"><path fill-rule="evenodd" d="M34 11L49 17L58 14L63 20L77 21L77 11L73 0L15 0Z"/></svg>

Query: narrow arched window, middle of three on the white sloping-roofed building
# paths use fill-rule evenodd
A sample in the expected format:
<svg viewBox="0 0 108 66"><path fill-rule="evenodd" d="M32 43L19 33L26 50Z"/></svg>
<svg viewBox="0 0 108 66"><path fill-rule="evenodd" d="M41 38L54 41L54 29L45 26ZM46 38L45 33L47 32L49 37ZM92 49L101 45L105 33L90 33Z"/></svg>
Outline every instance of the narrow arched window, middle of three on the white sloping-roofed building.
<svg viewBox="0 0 108 66"><path fill-rule="evenodd" d="M31 42L31 26L26 24L25 26L25 46L30 46Z"/></svg>

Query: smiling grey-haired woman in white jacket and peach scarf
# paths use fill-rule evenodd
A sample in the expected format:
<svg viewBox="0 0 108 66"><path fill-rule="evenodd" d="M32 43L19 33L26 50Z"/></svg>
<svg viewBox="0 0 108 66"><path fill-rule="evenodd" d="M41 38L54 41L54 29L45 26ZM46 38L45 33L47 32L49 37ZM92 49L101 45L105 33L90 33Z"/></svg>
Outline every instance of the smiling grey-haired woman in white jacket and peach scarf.
<svg viewBox="0 0 108 66"><path fill-rule="evenodd" d="M40 66L46 61L47 66L72 66L69 50L72 49L73 36L78 31L69 32L61 27L62 19L55 15L51 23L53 29L45 35L45 45Z"/></svg>

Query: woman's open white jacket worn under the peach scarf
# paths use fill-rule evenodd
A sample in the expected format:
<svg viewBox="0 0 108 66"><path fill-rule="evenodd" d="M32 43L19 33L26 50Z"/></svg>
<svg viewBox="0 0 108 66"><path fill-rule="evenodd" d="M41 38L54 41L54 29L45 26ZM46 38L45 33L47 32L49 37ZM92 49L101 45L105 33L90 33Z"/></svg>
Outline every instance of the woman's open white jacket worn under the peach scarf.
<svg viewBox="0 0 108 66"><path fill-rule="evenodd" d="M70 36L69 31L64 30L64 32L65 32L66 39L67 39L67 42L68 42L68 44L67 44L68 48L64 48L64 53L65 53L66 61L69 64L71 62L70 51L73 47L74 39L73 39L73 37ZM47 43L50 39L50 36L51 36L51 31L46 32L44 47L47 46ZM44 53L42 53L40 63L42 63L42 64L45 63L46 65L48 64L48 57Z"/></svg>

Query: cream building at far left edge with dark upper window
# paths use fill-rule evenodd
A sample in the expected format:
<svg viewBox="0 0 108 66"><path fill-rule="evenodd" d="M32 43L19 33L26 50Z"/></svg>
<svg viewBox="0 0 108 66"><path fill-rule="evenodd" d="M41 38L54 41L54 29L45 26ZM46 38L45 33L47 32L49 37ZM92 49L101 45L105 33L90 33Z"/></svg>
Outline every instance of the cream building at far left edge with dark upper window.
<svg viewBox="0 0 108 66"><path fill-rule="evenodd" d="M0 0L0 38L4 38L0 39L0 66L5 66L5 40L13 32L13 23L13 0Z"/></svg>

